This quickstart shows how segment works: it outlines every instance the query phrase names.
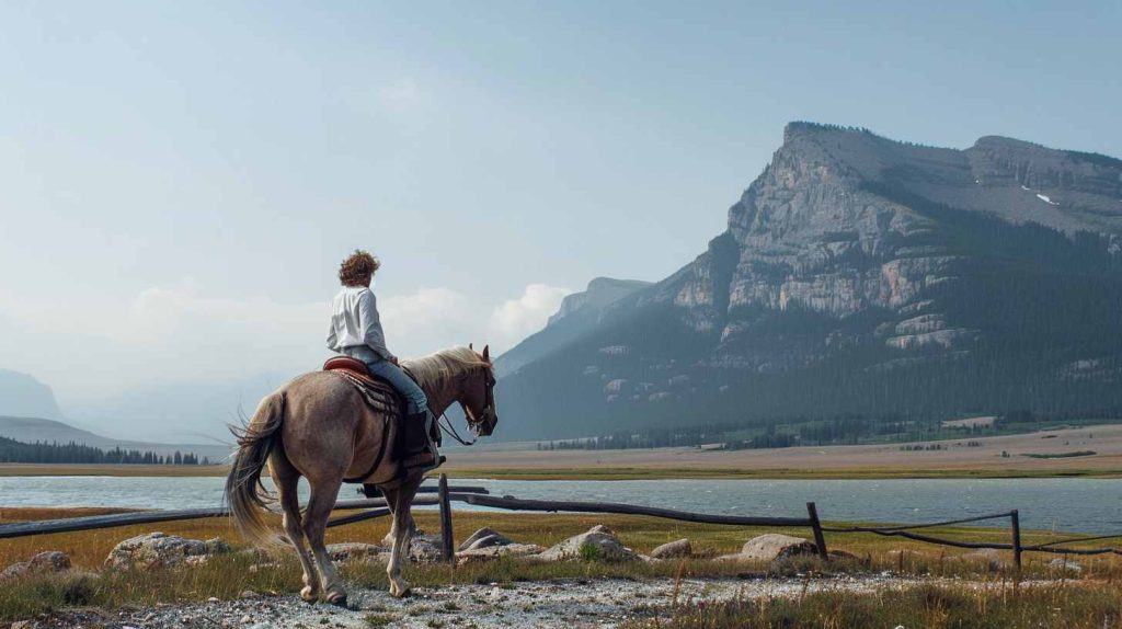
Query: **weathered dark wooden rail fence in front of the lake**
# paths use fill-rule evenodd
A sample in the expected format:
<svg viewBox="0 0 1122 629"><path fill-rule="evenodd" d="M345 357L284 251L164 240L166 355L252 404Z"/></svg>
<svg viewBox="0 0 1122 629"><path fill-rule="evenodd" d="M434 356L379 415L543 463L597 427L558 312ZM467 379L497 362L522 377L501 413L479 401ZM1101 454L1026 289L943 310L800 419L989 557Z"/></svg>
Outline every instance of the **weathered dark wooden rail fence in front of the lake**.
<svg viewBox="0 0 1122 629"><path fill-rule="evenodd" d="M1021 521L1017 509L1000 514L990 514L972 518L956 520L944 520L938 522L926 522L903 526L822 526L818 519L818 509L813 502L807 502L807 516L798 518L780 517L751 517L751 516L724 516L696 514L692 511L679 511L674 509L663 509L659 507L641 507L636 505L625 505L618 502L585 502L585 501L558 501L558 500L523 500L512 496L490 496L487 489L481 487L450 487L448 477L440 475L436 487L423 487L419 490L420 496L414 498L414 506L436 506L440 509L441 522L441 551L445 561L454 558L453 529L452 529L452 502L465 502L477 507L491 509L505 509L513 511L541 511L558 512L568 511L577 514L616 514L626 516L650 516L689 522L702 522L728 526L763 526L763 527L807 527L815 538L815 548L822 561L829 561L829 552L826 547L826 533L849 534L849 533L872 533L883 536L895 536L937 544L940 546L953 546L957 548L992 548L996 551L1012 551L1013 562L1018 570L1021 568L1021 556L1024 553L1054 553L1061 555L1102 555L1112 553L1122 555L1122 549L1116 547L1102 548L1064 548L1061 546L1075 543L1086 543L1102 539L1113 539L1122 535L1098 535L1087 537L1069 537L1057 539L1046 544L1033 544L1026 546L1021 542ZM431 496L435 493L435 496ZM376 496L376 492L368 492L367 496ZM380 518L389 515L384 498L370 497L362 500L340 500L335 503L337 510L359 510L358 514L340 516L328 521L329 527L342 526L373 518ZM46 535L52 533L71 533L79 530L90 530L96 528L108 528L117 526L128 526L137 524L155 524L173 520L188 520L196 518L214 518L228 516L229 509L224 507L212 509L178 509L165 511L139 511L132 514L112 514L108 516L88 516L81 518L66 518L58 520L42 520L33 522L12 522L0 525L0 539L12 537L25 537L29 535ZM1009 518L1010 542L959 542L935 537L920 533L918 529L953 526L967 522Z"/></svg>

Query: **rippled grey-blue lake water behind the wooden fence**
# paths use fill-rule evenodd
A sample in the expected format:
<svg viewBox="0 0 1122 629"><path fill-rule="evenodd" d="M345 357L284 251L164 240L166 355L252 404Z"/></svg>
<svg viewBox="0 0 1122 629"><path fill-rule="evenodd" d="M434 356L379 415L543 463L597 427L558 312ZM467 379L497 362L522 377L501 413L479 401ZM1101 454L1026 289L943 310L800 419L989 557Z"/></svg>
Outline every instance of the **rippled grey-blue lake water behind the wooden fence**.
<svg viewBox="0 0 1122 629"><path fill-rule="evenodd" d="M217 507L222 478L0 477L2 507ZM456 480L493 496L628 502L707 514L806 515L825 520L923 522L1019 509L1023 528L1122 533L1122 481L1112 479ZM343 485L340 499L358 498ZM306 487L302 487L306 498ZM475 509L457 503L457 509ZM986 522L981 522L985 526ZM1008 526L993 520L991 526Z"/></svg>

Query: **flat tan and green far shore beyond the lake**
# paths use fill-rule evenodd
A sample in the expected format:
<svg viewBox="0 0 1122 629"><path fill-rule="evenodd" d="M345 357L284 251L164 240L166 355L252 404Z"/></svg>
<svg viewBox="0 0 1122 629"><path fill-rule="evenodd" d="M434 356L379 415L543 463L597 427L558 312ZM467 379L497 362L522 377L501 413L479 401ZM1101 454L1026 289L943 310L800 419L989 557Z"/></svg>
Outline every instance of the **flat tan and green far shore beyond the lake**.
<svg viewBox="0 0 1122 629"><path fill-rule="evenodd" d="M909 447L936 443L939 450ZM1114 479L1122 478L1122 424L912 444L738 451L458 447L444 453L448 463L440 472L460 480ZM0 478L197 478L224 477L228 471L227 465L0 463Z"/></svg>

